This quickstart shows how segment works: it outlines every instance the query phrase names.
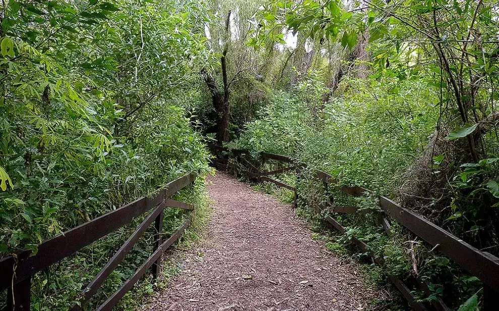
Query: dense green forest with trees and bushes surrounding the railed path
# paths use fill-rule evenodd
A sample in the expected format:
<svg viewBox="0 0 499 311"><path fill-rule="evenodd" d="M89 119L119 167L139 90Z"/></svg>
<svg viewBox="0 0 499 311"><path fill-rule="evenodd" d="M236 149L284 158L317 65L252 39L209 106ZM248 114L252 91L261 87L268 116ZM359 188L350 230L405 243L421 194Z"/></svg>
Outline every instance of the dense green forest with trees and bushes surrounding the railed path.
<svg viewBox="0 0 499 311"><path fill-rule="evenodd" d="M499 255L493 1L3 0L1 8L2 255L36 252L43 239L186 172L211 172L207 142L293 156ZM201 181L190 192L206 206ZM313 210L300 207L318 223ZM168 232L182 215L165 219ZM346 235L324 238L342 254L349 235L367 242L388 263L367 268L380 284L386 273L423 276L432 295L420 299L480 305L476 278L402 228L386 237L375 219L342 222ZM66 309L133 229L37 274L32 307ZM146 236L88 307L151 245ZM149 281L136 291L151 292ZM129 295L121 308L136 303Z"/></svg>

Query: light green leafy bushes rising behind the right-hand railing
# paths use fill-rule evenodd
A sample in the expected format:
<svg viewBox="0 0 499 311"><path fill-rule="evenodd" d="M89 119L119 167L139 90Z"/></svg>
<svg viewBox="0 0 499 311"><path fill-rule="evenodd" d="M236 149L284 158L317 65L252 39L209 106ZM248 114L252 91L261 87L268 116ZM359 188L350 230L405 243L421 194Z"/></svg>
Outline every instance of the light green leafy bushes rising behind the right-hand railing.
<svg viewBox="0 0 499 311"><path fill-rule="evenodd" d="M346 184L394 191L438 118L428 105L432 92L417 79L348 81L349 92L314 117L324 91L317 79L304 79L290 95L277 92L238 146L295 156Z"/></svg>

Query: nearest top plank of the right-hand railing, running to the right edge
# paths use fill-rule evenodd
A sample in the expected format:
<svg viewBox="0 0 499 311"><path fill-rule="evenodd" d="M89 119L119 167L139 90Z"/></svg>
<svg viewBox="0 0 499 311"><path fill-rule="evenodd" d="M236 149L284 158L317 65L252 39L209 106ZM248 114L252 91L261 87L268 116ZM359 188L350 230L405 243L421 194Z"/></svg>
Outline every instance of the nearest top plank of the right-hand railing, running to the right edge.
<svg viewBox="0 0 499 311"><path fill-rule="evenodd" d="M499 259L457 238L421 216L401 207L388 198L380 196L382 209L400 224L436 247L483 283L499 292Z"/></svg>

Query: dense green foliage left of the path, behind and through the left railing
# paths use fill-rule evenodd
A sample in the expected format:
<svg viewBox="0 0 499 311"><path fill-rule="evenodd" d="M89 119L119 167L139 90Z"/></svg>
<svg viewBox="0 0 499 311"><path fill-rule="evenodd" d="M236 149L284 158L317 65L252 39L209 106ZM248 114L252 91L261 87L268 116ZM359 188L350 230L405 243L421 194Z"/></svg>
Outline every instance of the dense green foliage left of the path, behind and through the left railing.
<svg viewBox="0 0 499 311"><path fill-rule="evenodd" d="M4 4L0 256L24 249L36 253L46 238L185 173L209 171L204 139L177 102L178 94L197 87L200 69L213 60L205 45L205 5L169 0ZM182 218L180 212L166 213L165 232ZM32 306L68 309L140 221L38 273ZM89 307L151 254L151 234ZM138 292L150 291L146 283ZM127 297L121 307L131 309L137 299Z"/></svg>

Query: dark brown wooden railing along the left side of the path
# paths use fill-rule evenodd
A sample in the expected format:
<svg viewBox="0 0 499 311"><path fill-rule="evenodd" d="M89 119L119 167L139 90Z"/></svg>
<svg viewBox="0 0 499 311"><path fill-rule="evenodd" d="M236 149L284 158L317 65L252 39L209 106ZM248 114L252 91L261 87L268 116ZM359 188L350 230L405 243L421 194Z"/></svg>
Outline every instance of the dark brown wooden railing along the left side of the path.
<svg viewBox="0 0 499 311"><path fill-rule="evenodd" d="M191 225L193 213L191 213L189 218L184 221L172 236L164 241L161 238L163 210L165 207L187 209L194 212L194 207L190 204L177 202L169 198L185 186L193 183L195 177L196 175L191 173L177 178L169 182L152 197L140 198L130 204L124 205L112 212L66 231L63 234L50 238L38 245L38 252L34 256L30 256L31 251L25 251L15 256L8 256L0 259L0 290L8 289L7 306L5 309L9 311L29 310L31 278L35 273L73 255L83 247L150 211L129 239L124 242L104 268L102 268L95 278L85 287L85 289L83 289L79 296L79 301L75 301L75 304L71 309L72 311L83 309L106 278L130 252L141 235L146 232L154 221L155 240L153 254L137 269L130 279L124 282L115 293L97 308L99 311L111 310L119 299L139 281L147 270L151 269L153 278L157 278L161 267L161 255L182 235L183 231Z"/></svg>

